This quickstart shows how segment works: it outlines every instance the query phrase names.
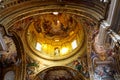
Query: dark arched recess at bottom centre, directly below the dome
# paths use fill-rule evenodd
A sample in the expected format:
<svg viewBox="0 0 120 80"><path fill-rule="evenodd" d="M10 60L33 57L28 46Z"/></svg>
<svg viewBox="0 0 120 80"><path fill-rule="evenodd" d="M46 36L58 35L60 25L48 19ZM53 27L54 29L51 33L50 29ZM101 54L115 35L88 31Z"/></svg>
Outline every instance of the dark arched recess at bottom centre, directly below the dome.
<svg viewBox="0 0 120 80"><path fill-rule="evenodd" d="M65 67L54 66L47 68L36 75L34 80L85 80L78 71Z"/></svg>

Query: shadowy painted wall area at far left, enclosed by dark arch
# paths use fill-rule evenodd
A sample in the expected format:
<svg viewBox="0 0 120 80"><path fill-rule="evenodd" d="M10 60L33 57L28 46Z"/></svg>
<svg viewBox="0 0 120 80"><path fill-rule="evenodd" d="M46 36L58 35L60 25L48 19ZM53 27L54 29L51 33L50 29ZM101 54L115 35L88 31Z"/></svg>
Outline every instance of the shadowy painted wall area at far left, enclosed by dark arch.
<svg viewBox="0 0 120 80"><path fill-rule="evenodd" d="M16 69L18 70L22 60L13 37L8 36L4 30L3 33L1 38L6 49L0 50L0 79L13 80L16 77Z"/></svg>

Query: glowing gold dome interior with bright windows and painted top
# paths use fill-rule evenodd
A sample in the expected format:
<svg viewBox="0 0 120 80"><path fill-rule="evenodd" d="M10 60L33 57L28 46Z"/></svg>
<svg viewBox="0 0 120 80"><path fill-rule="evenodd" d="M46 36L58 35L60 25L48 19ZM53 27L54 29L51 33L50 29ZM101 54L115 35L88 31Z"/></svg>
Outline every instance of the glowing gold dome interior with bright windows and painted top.
<svg viewBox="0 0 120 80"><path fill-rule="evenodd" d="M35 16L27 29L30 48L47 59L74 54L84 40L83 27L75 18L72 14L55 12Z"/></svg>

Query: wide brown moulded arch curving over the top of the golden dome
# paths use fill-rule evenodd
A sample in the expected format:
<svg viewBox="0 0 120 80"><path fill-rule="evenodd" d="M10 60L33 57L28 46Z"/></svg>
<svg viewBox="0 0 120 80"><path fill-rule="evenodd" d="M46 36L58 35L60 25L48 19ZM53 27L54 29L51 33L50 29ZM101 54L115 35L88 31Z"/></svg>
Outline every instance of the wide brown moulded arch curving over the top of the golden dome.
<svg viewBox="0 0 120 80"><path fill-rule="evenodd" d="M7 33L9 33L8 29L14 23L18 22L21 19L25 19L27 17L38 15L38 14L51 13L54 11L72 13L78 16L85 17L89 20L93 20L94 22L100 21L104 17L104 15L96 11L98 10L97 7L93 8L93 6L95 6L95 3L93 3L93 5L91 6L78 5L77 3L68 3L68 2L67 3L62 2L58 4L54 1L50 3L49 2L45 2L45 3L41 2L41 4L37 4L37 3L38 3L37 1L35 1L33 4L30 4L30 2L28 3L23 2L21 3L21 5L18 5L15 10L11 11L11 8L9 8L9 10L6 12L7 14L3 10L2 12L3 16L1 16L0 18L0 23L5 26ZM24 6L24 8L20 8L20 6ZM87 7L89 7L89 9Z"/></svg>

